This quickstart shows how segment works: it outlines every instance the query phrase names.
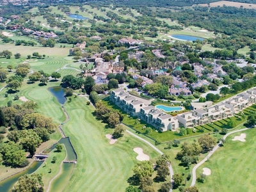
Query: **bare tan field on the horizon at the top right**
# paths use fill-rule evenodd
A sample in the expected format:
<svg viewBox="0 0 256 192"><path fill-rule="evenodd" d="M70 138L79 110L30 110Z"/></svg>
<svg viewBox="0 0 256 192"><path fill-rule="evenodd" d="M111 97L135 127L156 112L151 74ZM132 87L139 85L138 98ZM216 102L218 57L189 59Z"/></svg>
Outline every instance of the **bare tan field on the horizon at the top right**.
<svg viewBox="0 0 256 192"><path fill-rule="evenodd" d="M243 8L249 8L249 9L256 9L256 4L250 4L250 3L238 3L238 2L233 2L233 1L217 1L214 3L210 3L211 7L216 7L216 6L223 6L225 4L225 6L235 6L237 8L241 8L241 6L243 6ZM205 3L205 4L198 4L199 6L209 6L209 4Z"/></svg>

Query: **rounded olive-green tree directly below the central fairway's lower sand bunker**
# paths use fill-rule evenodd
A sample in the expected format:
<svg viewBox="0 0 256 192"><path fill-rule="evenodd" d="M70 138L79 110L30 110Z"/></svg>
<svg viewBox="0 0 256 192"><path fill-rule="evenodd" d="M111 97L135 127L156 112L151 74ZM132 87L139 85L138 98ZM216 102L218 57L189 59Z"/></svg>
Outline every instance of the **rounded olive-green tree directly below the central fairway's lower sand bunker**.
<svg viewBox="0 0 256 192"><path fill-rule="evenodd" d="M150 161L141 161L137 164L135 164L134 168L132 168L132 171L138 178L149 176L151 177L153 170L153 165Z"/></svg>

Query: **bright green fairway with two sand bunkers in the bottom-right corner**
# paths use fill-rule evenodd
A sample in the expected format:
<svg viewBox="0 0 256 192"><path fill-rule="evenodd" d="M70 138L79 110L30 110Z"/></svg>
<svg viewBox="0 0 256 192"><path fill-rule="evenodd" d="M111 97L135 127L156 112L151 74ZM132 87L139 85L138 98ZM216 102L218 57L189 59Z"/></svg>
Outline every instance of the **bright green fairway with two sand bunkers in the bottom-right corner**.
<svg viewBox="0 0 256 192"><path fill-rule="evenodd" d="M234 136L246 133L245 142L232 141ZM200 191L255 191L256 188L256 129L231 134L207 162L197 169L210 168L211 175L204 184L196 182Z"/></svg>

